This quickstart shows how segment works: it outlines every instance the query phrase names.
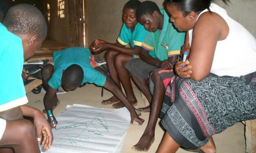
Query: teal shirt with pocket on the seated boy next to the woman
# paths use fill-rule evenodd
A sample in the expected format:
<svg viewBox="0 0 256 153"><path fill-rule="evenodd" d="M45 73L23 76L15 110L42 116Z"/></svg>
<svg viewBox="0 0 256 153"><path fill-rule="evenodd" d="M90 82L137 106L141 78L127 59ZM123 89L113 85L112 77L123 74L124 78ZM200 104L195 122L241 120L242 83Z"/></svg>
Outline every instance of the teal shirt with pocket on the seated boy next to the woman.
<svg viewBox="0 0 256 153"><path fill-rule="evenodd" d="M169 15L164 9L160 9L164 15L163 28L156 32L147 32L147 35L142 43L142 47L154 51L149 52L149 55L158 58L160 61L168 59L168 57L179 55L181 46L185 42L185 32L179 32L174 28L174 25L169 22ZM167 47L168 46L168 47Z"/></svg>

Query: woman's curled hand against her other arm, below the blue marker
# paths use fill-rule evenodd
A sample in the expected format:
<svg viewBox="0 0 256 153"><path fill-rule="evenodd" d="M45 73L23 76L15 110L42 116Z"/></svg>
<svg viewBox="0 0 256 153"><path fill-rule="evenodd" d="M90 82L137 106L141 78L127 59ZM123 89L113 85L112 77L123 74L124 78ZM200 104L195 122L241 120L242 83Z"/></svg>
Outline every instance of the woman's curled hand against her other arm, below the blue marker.
<svg viewBox="0 0 256 153"><path fill-rule="evenodd" d="M175 65L175 72L180 78L189 78L190 74L192 73L191 69L192 66L187 65L189 64L189 61L178 61ZM182 66L185 66L184 68L181 68Z"/></svg>

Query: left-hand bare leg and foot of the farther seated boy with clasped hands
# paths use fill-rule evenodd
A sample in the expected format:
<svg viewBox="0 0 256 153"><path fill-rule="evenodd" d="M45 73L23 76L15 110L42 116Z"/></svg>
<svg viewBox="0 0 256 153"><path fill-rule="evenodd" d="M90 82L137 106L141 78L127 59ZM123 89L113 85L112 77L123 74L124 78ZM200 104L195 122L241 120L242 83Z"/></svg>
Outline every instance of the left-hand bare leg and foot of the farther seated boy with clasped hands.
<svg viewBox="0 0 256 153"><path fill-rule="evenodd" d="M120 84L120 80L118 78L118 74L116 72L116 69L114 67L114 57L118 54L119 52L116 52L114 50L108 50L105 54L105 59L107 62L107 69L109 71L110 77L116 82L116 84L118 85L118 87L120 87L121 89L121 84ZM118 98L116 98L116 96L112 96L111 98L102 101L102 105L109 105L112 103L116 103L116 102L120 102L120 100Z"/></svg>

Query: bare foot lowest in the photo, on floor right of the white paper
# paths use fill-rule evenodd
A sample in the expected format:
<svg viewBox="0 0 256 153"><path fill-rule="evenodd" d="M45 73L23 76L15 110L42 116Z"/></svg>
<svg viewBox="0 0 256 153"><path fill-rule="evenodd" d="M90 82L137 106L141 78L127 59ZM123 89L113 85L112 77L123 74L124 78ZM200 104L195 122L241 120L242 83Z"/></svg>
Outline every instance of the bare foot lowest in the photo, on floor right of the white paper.
<svg viewBox="0 0 256 153"><path fill-rule="evenodd" d="M148 151L151 144L153 144L155 140L154 134L150 134L150 133L143 133L143 135L141 136L139 142L137 144L135 144L134 146L131 147L131 149L135 150L135 151Z"/></svg>

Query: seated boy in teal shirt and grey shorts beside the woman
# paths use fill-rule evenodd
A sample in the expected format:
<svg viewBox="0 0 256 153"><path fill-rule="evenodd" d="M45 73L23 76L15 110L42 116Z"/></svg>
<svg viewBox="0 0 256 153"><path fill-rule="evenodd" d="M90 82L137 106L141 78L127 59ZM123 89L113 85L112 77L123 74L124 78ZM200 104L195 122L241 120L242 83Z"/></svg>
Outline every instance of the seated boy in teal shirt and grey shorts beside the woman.
<svg viewBox="0 0 256 153"><path fill-rule="evenodd" d="M132 147L136 151L147 151L154 142L156 121L160 114L162 104L154 103L160 94L154 91L153 97L149 92L147 79L152 71L173 71L177 62L180 48L185 42L185 33L178 32L169 16L163 9L159 9L156 3L145 1L137 9L136 17L140 24L148 31L140 50L140 59L132 59L125 64L132 79L145 94L150 105L139 108L141 112L149 112L149 123L140 138L140 141ZM151 108L150 108L151 107Z"/></svg>

